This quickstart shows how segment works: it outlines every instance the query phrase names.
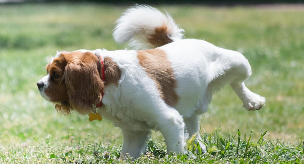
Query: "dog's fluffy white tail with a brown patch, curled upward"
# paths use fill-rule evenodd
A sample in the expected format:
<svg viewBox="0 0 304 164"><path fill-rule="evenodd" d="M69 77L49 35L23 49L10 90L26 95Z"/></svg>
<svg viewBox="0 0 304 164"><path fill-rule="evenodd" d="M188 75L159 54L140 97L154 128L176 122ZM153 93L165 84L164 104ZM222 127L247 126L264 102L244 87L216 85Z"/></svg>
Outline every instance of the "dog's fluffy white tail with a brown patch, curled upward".
<svg viewBox="0 0 304 164"><path fill-rule="evenodd" d="M130 41L129 46L140 50L180 40L182 32L167 12L165 15L148 5L136 5L116 21L113 37L117 43Z"/></svg>

